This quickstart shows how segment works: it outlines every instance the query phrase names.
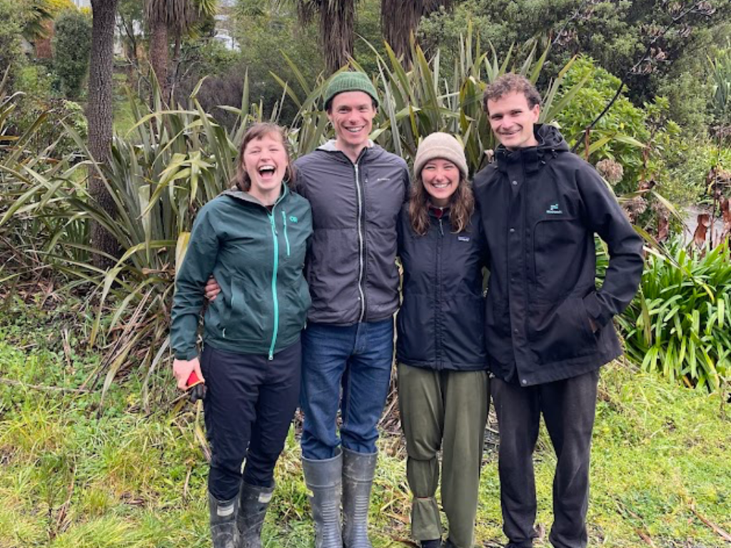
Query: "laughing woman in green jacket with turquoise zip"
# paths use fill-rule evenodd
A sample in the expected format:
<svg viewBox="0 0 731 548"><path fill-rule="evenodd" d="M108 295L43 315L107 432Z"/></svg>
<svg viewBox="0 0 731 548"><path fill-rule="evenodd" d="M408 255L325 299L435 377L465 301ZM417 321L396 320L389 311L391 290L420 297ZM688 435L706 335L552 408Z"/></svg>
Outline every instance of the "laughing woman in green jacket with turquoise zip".
<svg viewBox="0 0 731 548"><path fill-rule="evenodd" d="M173 373L181 389L192 372L207 387L214 548L261 546L274 465L300 392L300 331L310 305L302 269L312 224L306 199L287 187L285 143L270 123L246 132L236 188L201 208L175 280ZM210 275L223 298L205 312L199 363L197 325Z"/></svg>

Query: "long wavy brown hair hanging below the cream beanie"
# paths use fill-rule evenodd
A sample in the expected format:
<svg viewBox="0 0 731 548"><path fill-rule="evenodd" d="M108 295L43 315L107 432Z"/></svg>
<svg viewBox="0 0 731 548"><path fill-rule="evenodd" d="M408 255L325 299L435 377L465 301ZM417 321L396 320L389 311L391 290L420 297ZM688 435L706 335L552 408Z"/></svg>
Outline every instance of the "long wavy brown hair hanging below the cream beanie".
<svg viewBox="0 0 731 548"><path fill-rule="evenodd" d="M469 181L460 172L457 190L450 196L450 224L452 232L464 232L474 212L474 194ZM424 188L421 174L414 179L409 198L409 220L417 235L423 236L429 230L429 193Z"/></svg>

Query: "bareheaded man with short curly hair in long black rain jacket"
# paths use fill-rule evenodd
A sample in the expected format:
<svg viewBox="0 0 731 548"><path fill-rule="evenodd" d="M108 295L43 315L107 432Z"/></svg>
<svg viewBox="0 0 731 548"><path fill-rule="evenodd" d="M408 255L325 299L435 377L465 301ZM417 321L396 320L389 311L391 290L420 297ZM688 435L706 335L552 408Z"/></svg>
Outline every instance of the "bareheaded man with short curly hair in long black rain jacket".
<svg viewBox="0 0 731 548"><path fill-rule="evenodd" d="M531 546L542 414L557 456L549 540L583 548L599 368L621 354L612 318L637 292L642 240L594 167L556 128L537 124L539 105L524 77L488 85L484 106L501 145L475 178L491 259L485 344L501 435L503 530L508 547ZM610 254L600 287L595 233Z"/></svg>

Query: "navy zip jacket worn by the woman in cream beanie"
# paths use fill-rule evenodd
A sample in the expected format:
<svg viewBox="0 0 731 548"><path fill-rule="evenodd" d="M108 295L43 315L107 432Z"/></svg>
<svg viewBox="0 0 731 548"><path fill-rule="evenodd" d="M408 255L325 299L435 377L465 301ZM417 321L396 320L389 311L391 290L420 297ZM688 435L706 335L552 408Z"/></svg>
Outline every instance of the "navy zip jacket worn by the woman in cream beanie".
<svg viewBox="0 0 731 548"><path fill-rule="evenodd" d="M485 237L477 212L469 229L452 232L448 210L430 215L416 235L408 206L401 210L398 254L404 267L403 301L396 318L396 359L435 370L488 368L483 335L482 267Z"/></svg>

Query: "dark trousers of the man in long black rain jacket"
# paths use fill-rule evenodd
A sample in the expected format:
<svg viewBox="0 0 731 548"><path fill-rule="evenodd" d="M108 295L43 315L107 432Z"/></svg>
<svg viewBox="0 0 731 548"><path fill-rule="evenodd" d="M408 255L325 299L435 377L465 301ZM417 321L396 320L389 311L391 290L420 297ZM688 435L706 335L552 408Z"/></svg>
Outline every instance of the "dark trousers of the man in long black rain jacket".
<svg viewBox="0 0 731 548"><path fill-rule="evenodd" d="M556 548L586 547L589 456L599 371L534 387L491 381L500 429L498 468L503 531L512 548L529 548L535 536L533 452L540 415L556 451L553 527Z"/></svg>

